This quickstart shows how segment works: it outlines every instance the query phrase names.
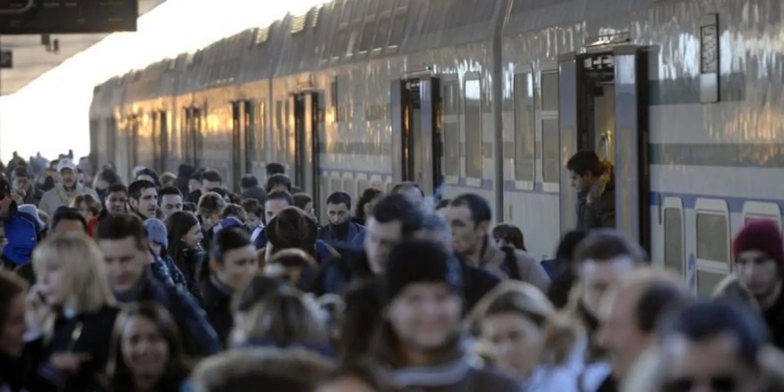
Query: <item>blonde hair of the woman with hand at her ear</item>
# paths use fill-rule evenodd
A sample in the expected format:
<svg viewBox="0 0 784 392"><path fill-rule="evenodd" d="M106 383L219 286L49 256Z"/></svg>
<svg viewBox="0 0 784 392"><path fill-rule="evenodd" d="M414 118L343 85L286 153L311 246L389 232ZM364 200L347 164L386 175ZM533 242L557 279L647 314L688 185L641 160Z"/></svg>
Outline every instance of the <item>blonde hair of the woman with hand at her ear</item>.
<svg viewBox="0 0 784 392"><path fill-rule="evenodd" d="M92 313L117 303L103 255L96 242L85 234L46 238L35 247L32 259L36 276L49 268L60 268L69 292L64 307L76 313Z"/></svg>

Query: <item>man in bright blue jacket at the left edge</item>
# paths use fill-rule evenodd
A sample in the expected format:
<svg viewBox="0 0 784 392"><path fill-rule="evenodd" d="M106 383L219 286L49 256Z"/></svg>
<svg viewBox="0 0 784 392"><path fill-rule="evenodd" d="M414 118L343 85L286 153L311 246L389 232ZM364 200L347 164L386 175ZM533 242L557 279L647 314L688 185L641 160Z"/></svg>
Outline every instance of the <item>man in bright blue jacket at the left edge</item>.
<svg viewBox="0 0 784 392"><path fill-rule="evenodd" d="M11 184L5 178L0 178L0 221L3 232L3 238L0 238L2 265L16 269L29 263L42 227L34 216L19 211L11 198Z"/></svg>

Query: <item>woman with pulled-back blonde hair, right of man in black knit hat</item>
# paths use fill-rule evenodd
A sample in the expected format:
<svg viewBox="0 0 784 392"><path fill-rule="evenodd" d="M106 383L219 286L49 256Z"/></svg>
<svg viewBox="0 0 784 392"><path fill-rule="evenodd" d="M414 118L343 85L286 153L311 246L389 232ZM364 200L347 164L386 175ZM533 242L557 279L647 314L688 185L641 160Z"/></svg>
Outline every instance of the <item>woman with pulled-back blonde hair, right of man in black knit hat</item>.
<svg viewBox="0 0 784 392"><path fill-rule="evenodd" d="M520 380L525 392L571 392L587 339L579 321L558 314L543 292L505 281L477 303L468 321L484 357Z"/></svg>

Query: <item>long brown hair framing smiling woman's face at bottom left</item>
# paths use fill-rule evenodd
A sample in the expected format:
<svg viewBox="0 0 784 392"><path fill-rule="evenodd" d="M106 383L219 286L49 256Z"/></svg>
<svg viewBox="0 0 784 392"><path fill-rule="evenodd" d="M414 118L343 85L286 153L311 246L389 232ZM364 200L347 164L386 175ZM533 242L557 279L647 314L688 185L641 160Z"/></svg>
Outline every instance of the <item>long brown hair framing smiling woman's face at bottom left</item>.
<svg viewBox="0 0 784 392"><path fill-rule="evenodd" d="M135 382L131 369L125 364L122 357L122 333L125 324L134 317L145 318L151 321L161 333L169 346L169 361L162 377L158 380L158 390L170 390L179 387L191 372L191 361L185 356L180 331L164 307L154 302L133 303L122 312L114 323L111 347L109 348L109 361L106 374L103 377L103 387L107 392L132 392Z"/></svg>

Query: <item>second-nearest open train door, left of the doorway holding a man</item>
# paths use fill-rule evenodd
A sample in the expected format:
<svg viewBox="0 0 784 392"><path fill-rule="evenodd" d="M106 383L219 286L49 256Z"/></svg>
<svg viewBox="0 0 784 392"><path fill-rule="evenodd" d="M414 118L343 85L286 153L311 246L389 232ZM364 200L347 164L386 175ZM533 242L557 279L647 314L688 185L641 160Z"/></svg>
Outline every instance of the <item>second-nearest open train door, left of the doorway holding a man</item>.
<svg viewBox="0 0 784 392"><path fill-rule="evenodd" d="M392 176L432 194L441 181L441 83L438 78L395 79L392 98Z"/></svg>

